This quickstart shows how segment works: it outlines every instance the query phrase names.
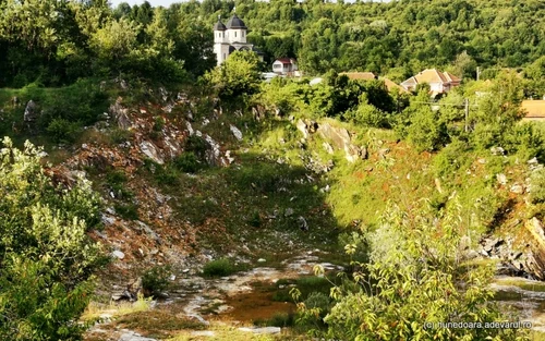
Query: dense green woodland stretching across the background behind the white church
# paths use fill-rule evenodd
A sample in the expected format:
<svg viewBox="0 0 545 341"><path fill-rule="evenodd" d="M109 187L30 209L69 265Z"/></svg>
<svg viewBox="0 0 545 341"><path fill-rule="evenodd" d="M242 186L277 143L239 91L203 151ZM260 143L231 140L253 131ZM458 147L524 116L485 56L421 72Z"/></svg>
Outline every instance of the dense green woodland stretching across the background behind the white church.
<svg viewBox="0 0 545 341"><path fill-rule="evenodd" d="M475 76L480 65L484 75L524 66L531 66L531 78L543 75L540 0L204 0L168 9L148 2L112 9L107 1L2 0L0 86L119 74L194 78L215 65L213 25L234 9L267 63L295 57L307 74L358 70L402 81L432 66Z"/></svg>

